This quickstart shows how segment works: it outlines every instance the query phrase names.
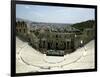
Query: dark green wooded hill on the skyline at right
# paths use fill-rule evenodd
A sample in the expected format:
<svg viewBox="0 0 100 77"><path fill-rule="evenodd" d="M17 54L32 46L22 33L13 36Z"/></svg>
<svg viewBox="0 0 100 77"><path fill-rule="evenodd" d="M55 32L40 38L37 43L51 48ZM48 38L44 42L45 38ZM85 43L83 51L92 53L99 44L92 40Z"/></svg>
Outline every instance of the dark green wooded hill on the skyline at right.
<svg viewBox="0 0 100 77"><path fill-rule="evenodd" d="M75 23L72 25L72 27L79 29L80 31L83 31L86 28L93 28L93 26L95 26L94 20L88 20L80 23Z"/></svg>

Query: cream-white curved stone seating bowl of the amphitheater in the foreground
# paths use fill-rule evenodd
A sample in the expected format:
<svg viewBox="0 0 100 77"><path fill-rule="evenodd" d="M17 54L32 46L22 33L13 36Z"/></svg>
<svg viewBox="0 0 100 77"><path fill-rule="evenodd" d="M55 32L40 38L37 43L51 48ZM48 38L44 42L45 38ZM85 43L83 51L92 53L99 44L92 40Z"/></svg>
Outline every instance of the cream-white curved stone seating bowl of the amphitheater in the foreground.
<svg viewBox="0 0 100 77"><path fill-rule="evenodd" d="M92 69L94 54L94 40L74 53L59 57L41 54L16 37L16 73Z"/></svg>

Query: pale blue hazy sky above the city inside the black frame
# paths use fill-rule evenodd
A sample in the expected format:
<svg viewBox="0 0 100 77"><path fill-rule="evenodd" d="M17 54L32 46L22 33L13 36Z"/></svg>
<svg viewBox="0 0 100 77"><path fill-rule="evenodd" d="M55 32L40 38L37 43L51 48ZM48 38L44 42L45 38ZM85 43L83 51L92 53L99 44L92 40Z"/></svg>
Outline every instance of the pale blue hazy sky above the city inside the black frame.
<svg viewBox="0 0 100 77"><path fill-rule="evenodd" d="M95 9L16 4L16 18L35 22L78 23L95 19Z"/></svg>

